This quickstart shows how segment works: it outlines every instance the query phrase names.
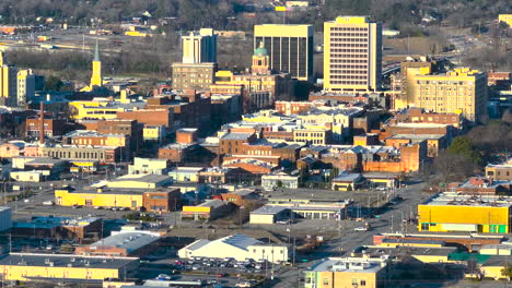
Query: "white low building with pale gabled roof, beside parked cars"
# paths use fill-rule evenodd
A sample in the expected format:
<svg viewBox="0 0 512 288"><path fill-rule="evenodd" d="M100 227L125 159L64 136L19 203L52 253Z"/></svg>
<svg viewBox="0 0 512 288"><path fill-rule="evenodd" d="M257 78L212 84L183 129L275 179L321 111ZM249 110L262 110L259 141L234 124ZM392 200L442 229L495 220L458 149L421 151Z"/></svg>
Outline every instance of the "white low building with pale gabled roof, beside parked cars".
<svg viewBox="0 0 512 288"><path fill-rule="evenodd" d="M264 243L245 235L231 235L213 241L200 239L178 250L182 259L191 257L233 257L237 261L253 259L272 263L288 262L291 251L287 244Z"/></svg>

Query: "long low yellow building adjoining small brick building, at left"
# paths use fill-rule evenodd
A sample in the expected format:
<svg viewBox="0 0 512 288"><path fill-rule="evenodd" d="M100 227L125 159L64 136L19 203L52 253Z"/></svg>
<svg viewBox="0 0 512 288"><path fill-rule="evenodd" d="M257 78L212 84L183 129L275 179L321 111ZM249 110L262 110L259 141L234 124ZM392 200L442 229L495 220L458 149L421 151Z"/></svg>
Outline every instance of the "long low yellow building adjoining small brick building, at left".
<svg viewBox="0 0 512 288"><path fill-rule="evenodd" d="M82 205L139 208L143 206L142 199L142 192L137 191L113 192L103 188L81 191L68 188L55 190L56 204L62 206Z"/></svg>

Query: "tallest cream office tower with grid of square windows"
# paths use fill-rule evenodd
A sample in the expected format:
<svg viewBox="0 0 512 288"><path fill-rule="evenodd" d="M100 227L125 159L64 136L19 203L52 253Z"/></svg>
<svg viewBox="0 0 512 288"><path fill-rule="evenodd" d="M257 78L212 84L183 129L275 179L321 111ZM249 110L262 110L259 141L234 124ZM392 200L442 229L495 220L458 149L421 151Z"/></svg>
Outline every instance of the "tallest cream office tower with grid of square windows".
<svg viewBox="0 0 512 288"><path fill-rule="evenodd" d="M368 16L339 16L324 23L324 89L376 91L381 76L381 23Z"/></svg>

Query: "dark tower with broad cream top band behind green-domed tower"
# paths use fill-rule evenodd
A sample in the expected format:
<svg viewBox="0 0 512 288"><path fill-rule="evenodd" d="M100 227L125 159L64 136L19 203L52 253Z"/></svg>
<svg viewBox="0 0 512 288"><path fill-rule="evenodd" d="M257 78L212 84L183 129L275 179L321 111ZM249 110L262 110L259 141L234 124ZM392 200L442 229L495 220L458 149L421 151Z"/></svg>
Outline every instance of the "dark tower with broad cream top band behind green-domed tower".
<svg viewBox="0 0 512 288"><path fill-rule="evenodd" d="M313 34L312 25L255 25L254 49L263 43L270 57L270 69L307 81L313 75Z"/></svg>

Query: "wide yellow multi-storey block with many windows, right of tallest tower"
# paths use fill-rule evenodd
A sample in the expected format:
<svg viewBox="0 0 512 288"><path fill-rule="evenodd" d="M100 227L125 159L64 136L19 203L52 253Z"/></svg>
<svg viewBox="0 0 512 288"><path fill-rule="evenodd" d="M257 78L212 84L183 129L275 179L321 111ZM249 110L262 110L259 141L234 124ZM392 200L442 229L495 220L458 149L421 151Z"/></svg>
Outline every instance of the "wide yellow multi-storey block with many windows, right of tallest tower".
<svg viewBox="0 0 512 288"><path fill-rule="evenodd" d="M487 74L468 68L412 77L414 106L439 113L462 113L478 121L486 112Z"/></svg>

